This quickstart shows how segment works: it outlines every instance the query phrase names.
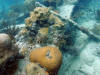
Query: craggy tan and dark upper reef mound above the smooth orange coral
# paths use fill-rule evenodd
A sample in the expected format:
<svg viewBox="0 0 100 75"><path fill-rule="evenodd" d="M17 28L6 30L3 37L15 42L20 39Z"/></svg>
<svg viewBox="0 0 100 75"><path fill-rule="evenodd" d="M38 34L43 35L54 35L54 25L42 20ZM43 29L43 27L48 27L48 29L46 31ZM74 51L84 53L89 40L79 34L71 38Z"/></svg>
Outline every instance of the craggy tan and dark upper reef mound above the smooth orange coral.
<svg viewBox="0 0 100 75"><path fill-rule="evenodd" d="M65 23L62 22L60 18L50 13L49 8L45 7L36 7L34 11L30 13L30 17L26 18L25 24L25 27L19 32L19 37L23 36L23 38L20 37L22 39L21 41L39 44L41 46L54 44L54 39L60 39L57 36L65 32L62 31L61 28L66 27ZM56 32L58 33L56 34ZM55 33L56 36L52 33ZM54 36L52 37L52 35ZM63 35L65 36L65 34L61 36L63 37ZM51 40L50 38L54 39Z"/></svg>

